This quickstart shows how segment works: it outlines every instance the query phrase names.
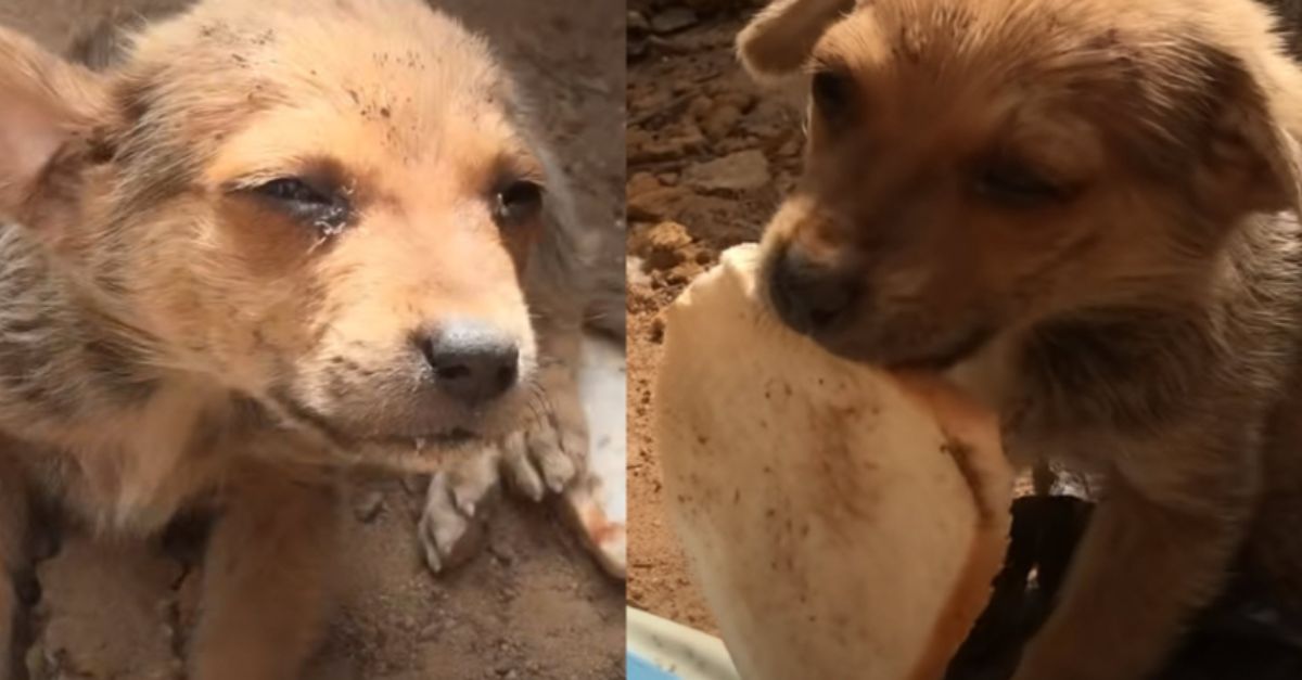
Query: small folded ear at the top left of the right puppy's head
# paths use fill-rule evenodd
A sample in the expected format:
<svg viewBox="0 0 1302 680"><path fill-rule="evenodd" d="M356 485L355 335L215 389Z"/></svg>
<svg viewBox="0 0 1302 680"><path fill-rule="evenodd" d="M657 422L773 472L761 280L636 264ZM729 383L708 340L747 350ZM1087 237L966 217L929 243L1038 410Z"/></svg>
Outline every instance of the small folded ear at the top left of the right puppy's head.
<svg viewBox="0 0 1302 680"><path fill-rule="evenodd" d="M756 79L788 76L809 59L823 33L857 0L773 0L737 36L737 55Z"/></svg>

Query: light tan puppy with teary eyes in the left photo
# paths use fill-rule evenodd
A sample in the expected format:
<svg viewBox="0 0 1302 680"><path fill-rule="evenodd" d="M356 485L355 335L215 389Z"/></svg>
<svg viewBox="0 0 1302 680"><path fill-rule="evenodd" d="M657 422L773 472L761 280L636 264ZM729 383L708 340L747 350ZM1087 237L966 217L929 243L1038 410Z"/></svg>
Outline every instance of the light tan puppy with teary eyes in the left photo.
<svg viewBox="0 0 1302 680"><path fill-rule="evenodd" d="M582 429L561 177L423 3L204 3L99 72L0 31L0 677L36 500L117 535L217 511L191 676L284 679L336 470Z"/></svg>

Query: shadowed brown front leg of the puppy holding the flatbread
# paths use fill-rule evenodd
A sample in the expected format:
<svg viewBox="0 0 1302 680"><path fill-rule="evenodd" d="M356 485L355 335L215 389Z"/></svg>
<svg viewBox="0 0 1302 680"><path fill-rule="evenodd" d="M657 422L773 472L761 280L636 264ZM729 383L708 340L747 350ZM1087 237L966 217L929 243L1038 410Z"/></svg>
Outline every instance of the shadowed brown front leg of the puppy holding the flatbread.
<svg viewBox="0 0 1302 680"><path fill-rule="evenodd" d="M1131 451L1016 680L1142 680L1161 664L1243 537L1258 483L1243 439L1211 451L1118 443Z"/></svg>

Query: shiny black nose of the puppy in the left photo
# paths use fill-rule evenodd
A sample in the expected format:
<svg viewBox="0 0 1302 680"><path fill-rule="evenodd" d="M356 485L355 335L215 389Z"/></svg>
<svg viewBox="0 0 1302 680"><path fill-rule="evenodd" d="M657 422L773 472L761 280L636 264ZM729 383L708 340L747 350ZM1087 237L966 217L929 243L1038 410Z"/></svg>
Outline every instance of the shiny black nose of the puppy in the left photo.
<svg viewBox="0 0 1302 680"><path fill-rule="evenodd" d="M519 376L519 348L508 333L475 320L450 320L422 341L435 383L460 401L487 401Z"/></svg>

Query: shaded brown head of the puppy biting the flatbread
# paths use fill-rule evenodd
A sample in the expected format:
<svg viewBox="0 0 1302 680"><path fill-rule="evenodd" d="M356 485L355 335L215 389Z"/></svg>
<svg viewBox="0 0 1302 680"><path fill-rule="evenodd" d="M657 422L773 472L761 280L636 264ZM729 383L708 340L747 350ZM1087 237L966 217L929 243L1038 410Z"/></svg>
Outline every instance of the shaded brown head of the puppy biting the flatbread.
<svg viewBox="0 0 1302 680"><path fill-rule="evenodd" d="M1236 225L1297 205L1269 29L1250 1L775 4L743 61L810 95L769 298L840 354L947 367L1051 315L1204 296Z"/></svg>

